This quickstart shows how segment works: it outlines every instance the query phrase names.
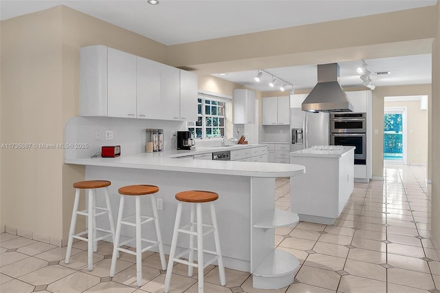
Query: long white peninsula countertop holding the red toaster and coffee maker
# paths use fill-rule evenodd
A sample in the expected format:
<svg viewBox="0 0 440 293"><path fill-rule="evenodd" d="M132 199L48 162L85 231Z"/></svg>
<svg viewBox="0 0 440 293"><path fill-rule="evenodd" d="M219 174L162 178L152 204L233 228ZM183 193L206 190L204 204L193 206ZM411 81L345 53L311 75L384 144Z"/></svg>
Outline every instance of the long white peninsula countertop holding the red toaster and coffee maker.
<svg viewBox="0 0 440 293"><path fill-rule="evenodd" d="M256 145L253 147L255 146ZM252 145L248 145L247 147L252 147ZM164 153L137 153L121 155L118 158L80 158L65 160L65 163L85 166L107 166L250 177L292 177L305 173L305 166L297 164L210 161L178 158L198 153L209 153L212 151L239 148L243 149L246 148L246 146L200 148L193 151L169 151Z"/></svg>

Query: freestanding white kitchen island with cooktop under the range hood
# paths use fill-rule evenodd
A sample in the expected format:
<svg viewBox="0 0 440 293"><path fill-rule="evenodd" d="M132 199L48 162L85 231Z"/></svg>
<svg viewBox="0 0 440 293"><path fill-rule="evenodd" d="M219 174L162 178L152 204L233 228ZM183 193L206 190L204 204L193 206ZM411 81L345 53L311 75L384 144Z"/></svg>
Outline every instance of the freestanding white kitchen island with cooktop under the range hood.
<svg viewBox="0 0 440 293"><path fill-rule="evenodd" d="M307 173L290 178L290 210L301 221L333 225L353 192L354 146L340 150L303 149L290 153L290 163Z"/></svg>

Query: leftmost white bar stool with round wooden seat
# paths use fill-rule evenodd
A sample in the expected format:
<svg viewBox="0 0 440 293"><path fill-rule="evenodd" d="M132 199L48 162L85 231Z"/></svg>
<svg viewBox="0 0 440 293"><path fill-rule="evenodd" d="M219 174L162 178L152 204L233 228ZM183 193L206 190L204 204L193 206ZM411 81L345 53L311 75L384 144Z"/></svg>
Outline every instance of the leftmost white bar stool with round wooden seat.
<svg viewBox="0 0 440 293"><path fill-rule="evenodd" d="M72 252L72 243L74 241L74 238L87 241L88 243L87 252L89 271L94 269L94 252L98 250L98 241L110 236L113 238L113 242L115 241L115 226L113 225L113 215L111 214L109 189L107 188L107 186L110 186L110 184L111 182L107 180L88 180L74 183L74 188L76 188L74 210L72 212L72 220L70 222L69 241L67 243L65 263L69 263L70 261L70 254ZM106 204L105 207L96 206L96 189L98 188L103 188ZM85 191L88 193L89 202L88 208L86 210L78 210L78 205L80 202L80 191L82 189L85 189ZM100 212L96 213L97 210L100 210ZM110 230L96 227L96 217L105 214L109 215ZM75 234L77 215L83 215L87 217L87 229L83 232ZM96 231L105 232L107 233L107 235L98 238L96 237ZM87 238L82 237L82 235L86 234Z"/></svg>

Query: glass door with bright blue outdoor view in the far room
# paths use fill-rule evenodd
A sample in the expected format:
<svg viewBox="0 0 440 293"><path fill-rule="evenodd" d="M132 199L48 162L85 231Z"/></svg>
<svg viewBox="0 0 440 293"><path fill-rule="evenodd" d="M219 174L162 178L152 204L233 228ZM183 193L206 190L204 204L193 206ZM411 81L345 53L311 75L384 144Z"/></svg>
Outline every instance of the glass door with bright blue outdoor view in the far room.
<svg viewBox="0 0 440 293"><path fill-rule="evenodd" d="M406 164L406 107L384 109L384 164Z"/></svg>

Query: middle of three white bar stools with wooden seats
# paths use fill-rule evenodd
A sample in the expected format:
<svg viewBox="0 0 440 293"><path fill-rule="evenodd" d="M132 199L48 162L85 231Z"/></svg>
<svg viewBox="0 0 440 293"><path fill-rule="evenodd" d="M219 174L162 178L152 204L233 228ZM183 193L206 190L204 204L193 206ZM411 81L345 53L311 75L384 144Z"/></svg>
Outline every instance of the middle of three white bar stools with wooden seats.
<svg viewBox="0 0 440 293"><path fill-rule="evenodd" d="M123 186L118 190L118 192L121 195L121 198L119 204L118 222L116 224L115 242L113 245L113 257L111 258L110 276L112 277L115 276L115 267L116 267L116 259L118 258L117 255L118 251L133 254L136 256L136 279L137 279L138 287L142 286L142 252L145 252L146 250L151 250L151 248L155 248L156 246L159 246L159 257L160 257L160 262L162 263L162 270L166 270L164 247L162 245L162 235L159 227L159 217L157 217L156 197L154 195L154 193L157 193L157 191L159 191L159 188L154 185L130 185L130 186ZM141 215L140 196L142 195L151 195L151 208L153 210L153 217ZM135 197L135 215L129 215L127 217L122 218L123 216L122 214L124 211L124 201L127 196ZM127 221L128 219L131 219L133 217L135 218L134 223L132 221ZM142 221L142 219L144 219L144 221ZM141 226L142 224L148 223L149 221L154 221L157 241L142 239ZM135 238L130 238L121 243L119 242L122 224L135 227L136 229ZM131 241L135 241L136 243L135 252L120 247ZM147 246L146 248L142 248L142 241L152 244L150 246Z"/></svg>

